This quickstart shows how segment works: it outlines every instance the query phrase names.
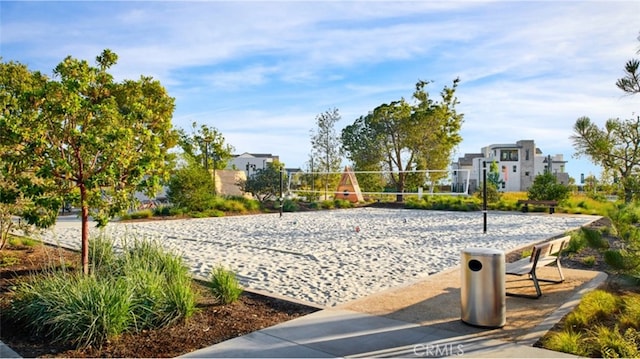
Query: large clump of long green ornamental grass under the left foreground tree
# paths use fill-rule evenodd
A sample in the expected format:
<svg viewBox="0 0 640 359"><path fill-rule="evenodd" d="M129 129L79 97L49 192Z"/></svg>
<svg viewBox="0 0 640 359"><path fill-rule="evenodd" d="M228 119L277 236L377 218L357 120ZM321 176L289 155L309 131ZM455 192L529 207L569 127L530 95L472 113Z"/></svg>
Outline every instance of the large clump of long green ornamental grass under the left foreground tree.
<svg viewBox="0 0 640 359"><path fill-rule="evenodd" d="M35 335L76 348L193 315L196 294L181 257L139 240L124 241L116 254L113 243L92 242L91 275L52 270L18 286L8 315Z"/></svg>

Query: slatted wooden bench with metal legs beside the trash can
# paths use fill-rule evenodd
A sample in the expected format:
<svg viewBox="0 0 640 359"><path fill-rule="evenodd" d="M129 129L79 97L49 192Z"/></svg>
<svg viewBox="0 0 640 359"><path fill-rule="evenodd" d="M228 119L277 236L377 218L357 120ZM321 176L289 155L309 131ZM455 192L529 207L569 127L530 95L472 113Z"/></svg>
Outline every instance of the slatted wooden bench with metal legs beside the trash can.
<svg viewBox="0 0 640 359"><path fill-rule="evenodd" d="M560 266L560 253L569 243L570 239L571 236L565 236L548 242L536 244L533 246L531 256L522 258L513 263L507 263L506 274L517 276L523 276L525 274L529 275L529 278L533 281L533 285L536 288L536 294L531 295L509 292L506 294L514 297L537 299L542 296L542 290L540 290L540 284L538 282L562 283L564 281L564 274L562 273L562 266ZM559 280L538 278L536 269L549 264L555 264L556 268L558 268L558 274L560 275Z"/></svg>

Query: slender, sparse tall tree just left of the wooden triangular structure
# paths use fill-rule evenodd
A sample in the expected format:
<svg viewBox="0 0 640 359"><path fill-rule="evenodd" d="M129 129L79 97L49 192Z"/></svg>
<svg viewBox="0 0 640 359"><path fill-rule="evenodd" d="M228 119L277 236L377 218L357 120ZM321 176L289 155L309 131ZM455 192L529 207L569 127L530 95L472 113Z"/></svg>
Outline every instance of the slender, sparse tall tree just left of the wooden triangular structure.
<svg viewBox="0 0 640 359"><path fill-rule="evenodd" d="M327 199L329 186L337 184L342 164L341 139L336 131L340 121L338 109L333 108L316 116L316 128L311 130L311 158L317 172L325 172L324 195Z"/></svg>

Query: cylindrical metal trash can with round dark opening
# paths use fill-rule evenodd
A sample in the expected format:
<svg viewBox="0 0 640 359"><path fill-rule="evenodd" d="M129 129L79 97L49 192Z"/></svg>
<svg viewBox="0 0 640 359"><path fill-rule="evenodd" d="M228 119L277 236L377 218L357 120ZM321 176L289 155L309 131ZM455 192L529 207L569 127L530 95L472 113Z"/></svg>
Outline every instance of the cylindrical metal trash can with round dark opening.
<svg viewBox="0 0 640 359"><path fill-rule="evenodd" d="M500 328L506 323L505 256L491 248L462 250L460 287L462 321Z"/></svg>

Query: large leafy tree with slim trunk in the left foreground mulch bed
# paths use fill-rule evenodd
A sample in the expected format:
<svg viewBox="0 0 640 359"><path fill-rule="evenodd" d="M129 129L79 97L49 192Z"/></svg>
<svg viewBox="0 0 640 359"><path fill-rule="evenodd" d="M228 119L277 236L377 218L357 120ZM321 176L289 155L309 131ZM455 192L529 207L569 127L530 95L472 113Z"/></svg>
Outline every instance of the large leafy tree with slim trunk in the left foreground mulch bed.
<svg viewBox="0 0 640 359"><path fill-rule="evenodd" d="M1 164L13 169L7 173L19 167L33 176L26 185L29 198L45 197L43 185L54 183L46 188L54 194L46 196L46 207L57 211L62 199L77 191L84 273L89 272L90 210L104 225L126 208L134 190L152 195L166 178L168 150L177 140L171 125L174 99L150 77L114 82L107 70L116 62L110 50L96 58L96 67L67 57L53 71L57 80L42 79L22 92L28 101L16 111L34 115L3 117L4 136L14 150L0 154Z"/></svg>

